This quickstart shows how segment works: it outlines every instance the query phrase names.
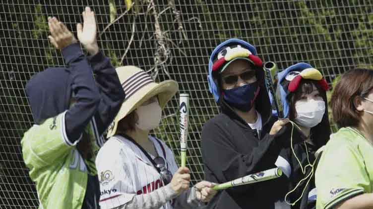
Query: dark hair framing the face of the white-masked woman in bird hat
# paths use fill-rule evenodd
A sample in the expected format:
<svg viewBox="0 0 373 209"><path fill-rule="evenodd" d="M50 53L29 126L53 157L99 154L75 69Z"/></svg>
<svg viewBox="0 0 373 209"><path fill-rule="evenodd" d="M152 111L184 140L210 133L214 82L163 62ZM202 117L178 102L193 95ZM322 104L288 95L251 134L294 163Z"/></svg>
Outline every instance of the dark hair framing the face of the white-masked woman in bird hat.
<svg viewBox="0 0 373 209"><path fill-rule="evenodd" d="M294 121L297 111L295 109L295 103L301 99L303 94L310 94L313 91L313 85L316 87L320 95L322 92L325 92L325 90L321 87L320 84L318 84L318 81L310 80L310 79L302 79L299 83L298 88L291 92L288 95L289 100L289 119L291 121ZM324 98L323 98L324 99ZM324 99L324 102L327 101Z"/></svg>

